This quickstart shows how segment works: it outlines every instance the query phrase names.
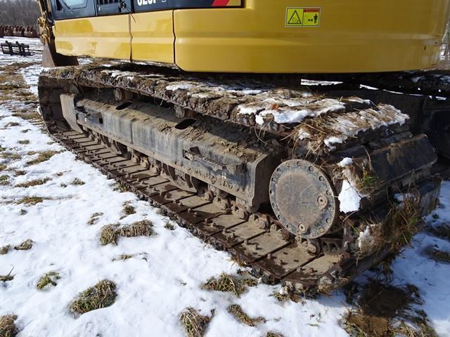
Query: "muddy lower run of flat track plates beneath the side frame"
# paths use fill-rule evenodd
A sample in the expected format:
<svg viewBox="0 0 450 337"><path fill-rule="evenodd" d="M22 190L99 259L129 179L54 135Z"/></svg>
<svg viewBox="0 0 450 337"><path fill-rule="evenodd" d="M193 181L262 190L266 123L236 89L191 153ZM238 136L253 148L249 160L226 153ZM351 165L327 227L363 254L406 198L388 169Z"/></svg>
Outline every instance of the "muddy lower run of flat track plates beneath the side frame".
<svg viewBox="0 0 450 337"><path fill-rule="evenodd" d="M180 190L164 177L114 154L84 134L67 131L52 136L79 159L114 178L139 198L160 207L171 219L176 218L181 227L188 228L216 249L231 253L238 262L251 267L252 275L261 277L264 283L303 284L296 290L315 292L321 277L340 260L337 254L312 256L296 242L286 239L274 225L271 229L262 227L257 221L260 214L243 220L221 211L212 201ZM275 220L271 219L271 223ZM301 270L307 270L307 275L302 275ZM295 282L290 277L294 274L297 274Z"/></svg>

